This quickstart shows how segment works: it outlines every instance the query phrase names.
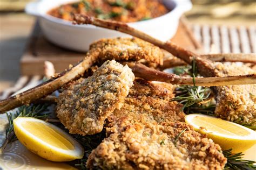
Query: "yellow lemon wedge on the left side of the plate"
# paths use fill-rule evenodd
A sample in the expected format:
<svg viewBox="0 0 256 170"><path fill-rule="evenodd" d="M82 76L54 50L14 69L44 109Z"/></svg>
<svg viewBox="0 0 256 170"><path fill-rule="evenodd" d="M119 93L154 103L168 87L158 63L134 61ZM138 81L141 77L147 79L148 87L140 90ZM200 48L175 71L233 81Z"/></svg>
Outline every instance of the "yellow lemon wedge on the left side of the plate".
<svg viewBox="0 0 256 170"><path fill-rule="evenodd" d="M51 161L71 161L83 158L83 147L57 126L30 117L14 119L18 140L31 152Z"/></svg>

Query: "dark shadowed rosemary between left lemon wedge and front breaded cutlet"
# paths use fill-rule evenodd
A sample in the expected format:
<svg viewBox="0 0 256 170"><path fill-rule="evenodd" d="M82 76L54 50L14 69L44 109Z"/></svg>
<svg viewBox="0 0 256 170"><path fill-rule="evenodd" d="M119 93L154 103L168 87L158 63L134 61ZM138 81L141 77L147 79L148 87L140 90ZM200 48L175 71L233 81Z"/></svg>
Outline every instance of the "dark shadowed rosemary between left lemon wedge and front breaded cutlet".
<svg viewBox="0 0 256 170"><path fill-rule="evenodd" d="M103 129L102 132L93 134L80 136L78 134L72 135L81 145L84 147L84 157L79 160L79 163L76 166L79 166L79 169L86 169L86 161L91 154L92 150L94 150L102 140L106 137L106 130Z"/></svg>

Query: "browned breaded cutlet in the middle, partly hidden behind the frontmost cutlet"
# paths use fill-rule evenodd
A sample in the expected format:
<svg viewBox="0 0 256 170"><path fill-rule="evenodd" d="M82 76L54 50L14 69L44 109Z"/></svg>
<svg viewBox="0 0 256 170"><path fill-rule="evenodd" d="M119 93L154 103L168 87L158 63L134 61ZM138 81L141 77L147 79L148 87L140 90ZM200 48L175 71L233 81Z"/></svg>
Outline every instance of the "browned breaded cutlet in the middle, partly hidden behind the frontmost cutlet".
<svg viewBox="0 0 256 170"><path fill-rule="evenodd" d="M133 117L133 120L146 118L153 122L184 121L185 114L180 111L182 104L171 102L174 97L173 85L136 79L123 107L113 112L114 117ZM132 112L132 114L131 114Z"/></svg>

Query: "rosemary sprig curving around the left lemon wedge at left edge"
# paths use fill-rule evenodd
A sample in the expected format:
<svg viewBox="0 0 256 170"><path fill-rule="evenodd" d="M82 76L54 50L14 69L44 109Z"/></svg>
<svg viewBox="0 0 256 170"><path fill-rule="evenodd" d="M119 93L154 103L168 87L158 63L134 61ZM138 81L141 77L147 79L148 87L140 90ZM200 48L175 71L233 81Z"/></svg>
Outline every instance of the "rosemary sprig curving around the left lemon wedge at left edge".
<svg viewBox="0 0 256 170"><path fill-rule="evenodd" d="M31 104L29 106L23 105L22 107L19 107L15 114L11 114L6 112L6 116L8 118L8 127L6 128L5 134L5 140L1 147L1 151L4 151L4 148L8 143L11 143L12 141L16 140L16 136L14 133L14 119L17 117L33 117L33 118L46 118L49 115L48 111L48 104Z"/></svg>

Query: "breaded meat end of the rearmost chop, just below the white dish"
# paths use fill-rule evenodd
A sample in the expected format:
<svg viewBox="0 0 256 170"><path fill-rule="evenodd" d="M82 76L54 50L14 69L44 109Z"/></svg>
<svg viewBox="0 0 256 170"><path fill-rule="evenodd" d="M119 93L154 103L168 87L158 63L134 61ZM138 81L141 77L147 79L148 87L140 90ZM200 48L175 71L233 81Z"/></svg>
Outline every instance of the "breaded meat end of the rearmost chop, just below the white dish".
<svg viewBox="0 0 256 170"><path fill-rule="evenodd" d="M163 64L163 52L157 46L138 38L101 39L90 45L90 51L99 52L99 60L141 61Z"/></svg>

